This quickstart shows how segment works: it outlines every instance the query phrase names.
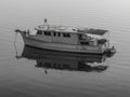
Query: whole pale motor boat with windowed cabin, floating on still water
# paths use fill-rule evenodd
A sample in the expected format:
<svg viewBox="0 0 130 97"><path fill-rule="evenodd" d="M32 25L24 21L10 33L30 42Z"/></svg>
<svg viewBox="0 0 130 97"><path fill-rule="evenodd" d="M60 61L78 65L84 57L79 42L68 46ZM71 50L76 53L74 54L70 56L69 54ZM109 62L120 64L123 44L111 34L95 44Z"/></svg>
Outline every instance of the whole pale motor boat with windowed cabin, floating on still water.
<svg viewBox="0 0 130 97"><path fill-rule="evenodd" d="M55 26L44 19L43 25L35 27L35 32L20 29L15 32L22 34L25 45L49 51L104 54L115 50L106 38L108 31L103 29Z"/></svg>

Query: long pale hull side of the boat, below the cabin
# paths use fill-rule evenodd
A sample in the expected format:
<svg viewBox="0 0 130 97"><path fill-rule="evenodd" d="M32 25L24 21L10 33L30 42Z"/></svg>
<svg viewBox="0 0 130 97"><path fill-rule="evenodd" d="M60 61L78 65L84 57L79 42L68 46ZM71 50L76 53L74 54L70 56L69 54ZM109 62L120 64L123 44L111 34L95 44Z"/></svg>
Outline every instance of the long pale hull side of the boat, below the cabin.
<svg viewBox="0 0 130 97"><path fill-rule="evenodd" d="M84 45L75 45L75 44L63 44L54 42L46 42L41 40L36 40L31 37L23 36L24 43L29 46L46 48L51 51L60 52L70 52L70 53L89 53L89 54L103 54L105 50L100 50L98 46L84 46Z"/></svg>

